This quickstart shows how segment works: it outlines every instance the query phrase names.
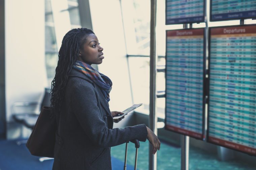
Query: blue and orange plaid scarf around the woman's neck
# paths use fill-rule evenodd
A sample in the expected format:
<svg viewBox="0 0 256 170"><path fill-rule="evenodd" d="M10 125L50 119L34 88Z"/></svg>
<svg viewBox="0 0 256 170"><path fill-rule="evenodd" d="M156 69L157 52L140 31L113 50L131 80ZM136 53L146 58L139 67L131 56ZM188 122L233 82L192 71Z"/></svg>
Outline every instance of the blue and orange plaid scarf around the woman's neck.
<svg viewBox="0 0 256 170"><path fill-rule="evenodd" d="M100 87L106 101L109 102L109 92L112 88L112 81L107 76L98 72L98 70L94 69L87 63L78 60L75 62L73 68L84 73L88 78L90 78L90 80L97 84Z"/></svg>

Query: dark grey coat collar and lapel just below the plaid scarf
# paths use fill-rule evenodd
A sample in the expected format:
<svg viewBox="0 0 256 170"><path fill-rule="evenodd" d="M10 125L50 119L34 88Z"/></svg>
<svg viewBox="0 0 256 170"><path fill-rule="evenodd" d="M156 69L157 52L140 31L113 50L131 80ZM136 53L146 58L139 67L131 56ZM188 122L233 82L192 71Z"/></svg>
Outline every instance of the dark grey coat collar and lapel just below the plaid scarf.
<svg viewBox="0 0 256 170"><path fill-rule="evenodd" d="M98 85L96 85L93 81L91 81L87 76L85 76L83 73L79 72L78 70L75 70L75 69L72 69L69 73L69 77L78 77L78 78L81 78L81 79L84 79L90 83L92 83L92 85L95 87L96 91L98 92L98 96L100 98L100 103L101 105L103 106L103 108L105 109L105 111L110 115L111 115L111 112L109 110L109 105L105 99L105 97L103 96L101 90L100 90L100 87Z"/></svg>

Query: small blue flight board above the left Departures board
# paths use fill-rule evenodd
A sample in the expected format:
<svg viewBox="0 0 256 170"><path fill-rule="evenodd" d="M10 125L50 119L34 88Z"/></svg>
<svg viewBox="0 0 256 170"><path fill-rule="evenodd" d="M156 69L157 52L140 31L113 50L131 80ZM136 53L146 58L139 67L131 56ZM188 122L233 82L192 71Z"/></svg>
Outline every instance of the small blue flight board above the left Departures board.
<svg viewBox="0 0 256 170"><path fill-rule="evenodd" d="M186 24L205 21L204 0L166 0L165 24Z"/></svg>

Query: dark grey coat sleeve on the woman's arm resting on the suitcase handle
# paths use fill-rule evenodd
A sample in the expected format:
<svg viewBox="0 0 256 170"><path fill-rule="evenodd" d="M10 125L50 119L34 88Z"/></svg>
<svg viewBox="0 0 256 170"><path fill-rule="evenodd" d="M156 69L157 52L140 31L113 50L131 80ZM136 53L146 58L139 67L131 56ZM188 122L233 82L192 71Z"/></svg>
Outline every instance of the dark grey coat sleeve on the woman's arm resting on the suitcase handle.
<svg viewBox="0 0 256 170"><path fill-rule="evenodd" d="M91 84L90 84L91 85ZM74 114L89 139L100 147L116 146L132 139L146 141L145 124L108 129L97 105L94 87L78 84L71 95Z"/></svg>

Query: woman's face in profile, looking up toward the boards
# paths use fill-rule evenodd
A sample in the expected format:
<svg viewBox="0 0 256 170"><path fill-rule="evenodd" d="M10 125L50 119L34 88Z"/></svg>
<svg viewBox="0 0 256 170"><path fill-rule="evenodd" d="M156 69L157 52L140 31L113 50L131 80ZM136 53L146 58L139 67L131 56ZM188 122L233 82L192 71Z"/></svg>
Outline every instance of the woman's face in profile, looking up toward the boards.
<svg viewBox="0 0 256 170"><path fill-rule="evenodd" d="M98 38L94 34L86 37L86 42L79 50L77 60L91 64L101 64L103 56L103 48L99 45Z"/></svg>

